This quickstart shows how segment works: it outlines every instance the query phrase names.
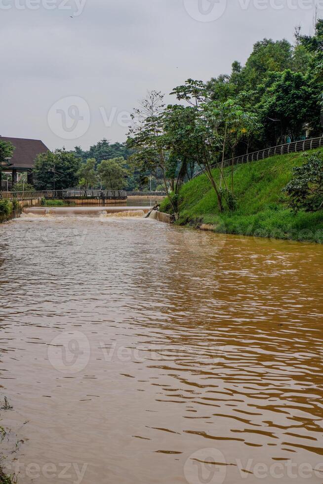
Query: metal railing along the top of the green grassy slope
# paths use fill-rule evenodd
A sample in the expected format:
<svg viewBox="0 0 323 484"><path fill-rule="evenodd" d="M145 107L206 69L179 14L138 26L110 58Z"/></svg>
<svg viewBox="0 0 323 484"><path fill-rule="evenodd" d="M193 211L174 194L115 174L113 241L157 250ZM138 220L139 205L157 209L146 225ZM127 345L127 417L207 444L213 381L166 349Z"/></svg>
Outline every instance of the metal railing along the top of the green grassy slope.
<svg viewBox="0 0 323 484"><path fill-rule="evenodd" d="M265 160L276 155L287 155L288 153L297 153L300 151L313 150L323 146L323 136L319 138L304 139L301 141L293 141L292 143L285 143L283 145L272 146L264 150L254 151L253 153L246 153L245 155L237 156L235 158L225 160L224 166L231 166L235 164L247 163L248 161ZM212 167L218 166L220 162L214 163ZM203 170L196 173L193 178L201 175Z"/></svg>

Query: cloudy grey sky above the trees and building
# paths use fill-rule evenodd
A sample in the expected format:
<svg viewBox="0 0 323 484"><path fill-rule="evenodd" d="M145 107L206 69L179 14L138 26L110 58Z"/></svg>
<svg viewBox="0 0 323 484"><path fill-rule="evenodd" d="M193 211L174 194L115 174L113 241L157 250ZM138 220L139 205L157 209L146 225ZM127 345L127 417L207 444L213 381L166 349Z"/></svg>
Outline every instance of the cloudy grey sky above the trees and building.
<svg viewBox="0 0 323 484"><path fill-rule="evenodd" d="M314 10L315 0L0 0L0 135L50 149L124 141L147 89L230 72L257 40L311 32Z"/></svg>

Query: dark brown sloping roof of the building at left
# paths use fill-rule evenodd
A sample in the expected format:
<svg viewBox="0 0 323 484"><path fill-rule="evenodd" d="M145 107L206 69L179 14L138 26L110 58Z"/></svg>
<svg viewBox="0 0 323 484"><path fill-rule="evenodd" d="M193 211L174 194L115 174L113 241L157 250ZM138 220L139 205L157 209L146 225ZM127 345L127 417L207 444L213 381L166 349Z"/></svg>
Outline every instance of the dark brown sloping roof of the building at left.
<svg viewBox="0 0 323 484"><path fill-rule="evenodd" d="M40 139L7 138L0 136L0 141L10 141L15 147L9 168L12 169L32 169L37 155L46 153L47 146Z"/></svg>

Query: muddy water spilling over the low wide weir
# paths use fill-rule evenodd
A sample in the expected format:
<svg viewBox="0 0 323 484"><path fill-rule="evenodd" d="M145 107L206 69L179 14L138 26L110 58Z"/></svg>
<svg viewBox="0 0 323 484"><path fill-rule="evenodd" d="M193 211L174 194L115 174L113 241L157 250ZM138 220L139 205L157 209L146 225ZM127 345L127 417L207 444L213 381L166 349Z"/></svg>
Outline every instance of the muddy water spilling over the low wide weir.
<svg viewBox="0 0 323 484"><path fill-rule="evenodd" d="M59 217L75 217L86 215L87 217L144 217L151 210L149 206L71 206L71 207L26 207L27 215L46 215Z"/></svg>

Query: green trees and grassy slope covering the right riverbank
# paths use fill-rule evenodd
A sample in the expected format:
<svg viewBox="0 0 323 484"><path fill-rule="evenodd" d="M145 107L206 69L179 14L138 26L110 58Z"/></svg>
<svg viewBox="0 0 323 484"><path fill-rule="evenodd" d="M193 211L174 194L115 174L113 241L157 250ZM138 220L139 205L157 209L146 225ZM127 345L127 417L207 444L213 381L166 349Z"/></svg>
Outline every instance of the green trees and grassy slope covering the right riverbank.
<svg viewBox="0 0 323 484"><path fill-rule="evenodd" d="M305 162L299 155L244 166L231 160L322 136L322 92L323 20L318 20L312 36L295 29L293 45L257 42L246 64L235 61L230 75L188 79L171 92L177 104L166 106L161 92L149 92L133 113L130 160L161 179L179 223L213 223L220 215L218 231L224 225L225 231L248 233L252 226L263 233L276 230L282 238L313 240L299 231L309 225L312 230L322 217L320 158L299 168L294 180L293 163ZM192 180L197 171L202 178ZM308 199L301 206L314 185L315 203Z"/></svg>

